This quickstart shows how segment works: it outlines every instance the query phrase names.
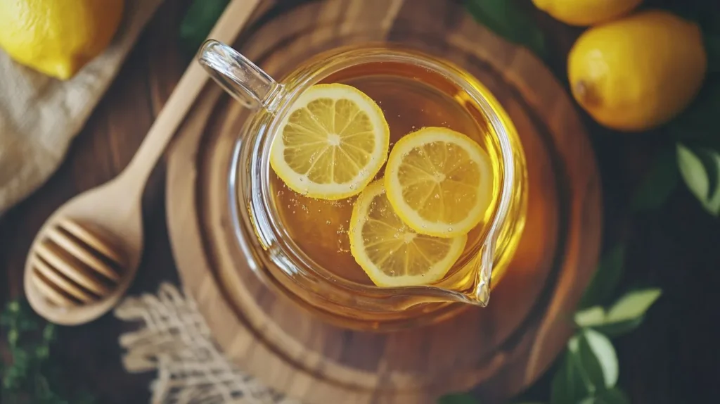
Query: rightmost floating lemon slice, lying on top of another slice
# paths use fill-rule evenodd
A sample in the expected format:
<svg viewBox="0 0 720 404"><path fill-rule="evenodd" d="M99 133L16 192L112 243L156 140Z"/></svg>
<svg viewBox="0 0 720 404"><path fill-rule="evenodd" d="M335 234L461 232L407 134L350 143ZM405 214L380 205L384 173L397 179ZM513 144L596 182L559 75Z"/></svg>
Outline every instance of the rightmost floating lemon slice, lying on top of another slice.
<svg viewBox="0 0 720 404"><path fill-rule="evenodd" d="M492 201L490 156L471 138L444 127L425 127L395 143L384 181L402 221L436 237L469 232Z"/></svg>

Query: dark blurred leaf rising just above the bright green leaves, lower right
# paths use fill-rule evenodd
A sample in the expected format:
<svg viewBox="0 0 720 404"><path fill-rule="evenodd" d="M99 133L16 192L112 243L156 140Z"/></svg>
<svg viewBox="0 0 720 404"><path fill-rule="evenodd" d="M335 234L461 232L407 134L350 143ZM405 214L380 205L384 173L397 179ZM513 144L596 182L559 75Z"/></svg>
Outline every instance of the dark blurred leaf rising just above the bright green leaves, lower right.
<svg viewBox="0 0 720 404"><path fill-rule="evenodd" d="M615 287L620 281L625 261L625 246L616 246L603 259L600 260L598 269L593 274L585 294L580 300L580 308L590 308L594 305L602 305L613 294Z"/></svg>

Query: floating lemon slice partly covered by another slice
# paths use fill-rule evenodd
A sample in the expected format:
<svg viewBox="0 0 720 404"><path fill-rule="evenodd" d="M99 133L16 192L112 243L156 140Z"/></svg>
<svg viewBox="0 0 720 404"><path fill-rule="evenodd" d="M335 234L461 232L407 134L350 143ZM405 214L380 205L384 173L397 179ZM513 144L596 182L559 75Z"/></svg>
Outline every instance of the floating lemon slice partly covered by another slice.
<svg viewBox="0 0 720 404"><path fill-rule="evenodd" d="M439 238L402 223L387 200L382 180L360 194L350 217L350 252L380 287L437 282L462 254L467 235Z"/></svg>

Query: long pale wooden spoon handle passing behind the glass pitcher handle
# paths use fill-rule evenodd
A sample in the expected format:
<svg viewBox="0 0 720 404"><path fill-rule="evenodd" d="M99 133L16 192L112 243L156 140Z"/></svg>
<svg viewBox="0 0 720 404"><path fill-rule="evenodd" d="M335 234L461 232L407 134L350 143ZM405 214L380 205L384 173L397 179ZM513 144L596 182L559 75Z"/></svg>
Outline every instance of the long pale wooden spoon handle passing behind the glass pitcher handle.
<svg viewBox="0 0 720 404"><path fill-rule="evenodd" d="M228 42L235 40L259 2L260 0L230 1L225 12L222 13L210 32L210 37ZM165 107L153 122L153 126L150 127L138 153L135 153L130 164L120 175L121 179L135 184L139 193L143 192L150 172L153 171L158 159L163 155L170 139L176 133L208 78L207 73L196 61L190 63Z"/></svg>

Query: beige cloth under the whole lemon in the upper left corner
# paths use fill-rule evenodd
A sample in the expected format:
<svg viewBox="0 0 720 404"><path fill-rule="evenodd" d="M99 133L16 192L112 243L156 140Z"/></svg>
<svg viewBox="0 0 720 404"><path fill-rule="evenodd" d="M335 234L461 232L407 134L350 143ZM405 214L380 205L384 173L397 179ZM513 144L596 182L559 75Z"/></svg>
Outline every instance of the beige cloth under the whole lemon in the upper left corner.
<svg viewBox="0 0 720 404"><path fill-rule="evenodd" d="M161 2L126 0L112 43L68 81L14 63L0 50L0 216L58 168Z"/></svg>

